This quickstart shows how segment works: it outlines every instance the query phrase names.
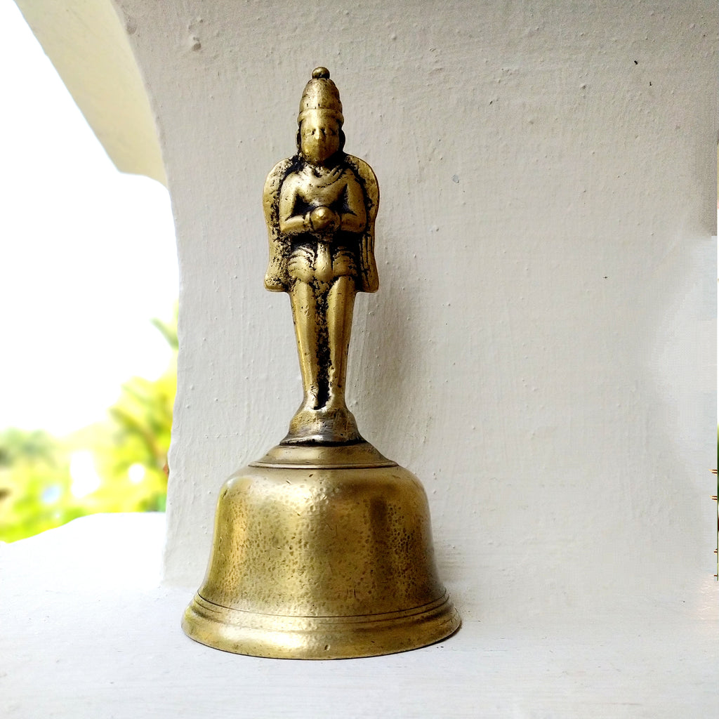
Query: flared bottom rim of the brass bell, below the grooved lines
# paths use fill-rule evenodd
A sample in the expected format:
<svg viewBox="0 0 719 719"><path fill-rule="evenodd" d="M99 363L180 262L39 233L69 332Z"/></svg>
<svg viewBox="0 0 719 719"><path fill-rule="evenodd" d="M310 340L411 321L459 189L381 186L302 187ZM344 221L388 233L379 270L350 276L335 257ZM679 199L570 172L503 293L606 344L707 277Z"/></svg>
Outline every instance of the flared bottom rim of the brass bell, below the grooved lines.
<svg viewBox="0 0 719 719"><path fill-rule="evenodd" d="M423 607L357 617L288 617L221 607L195 595L183 630L201 644L275 659L350 659L435 644L460 620L449 595Z"/></svg>

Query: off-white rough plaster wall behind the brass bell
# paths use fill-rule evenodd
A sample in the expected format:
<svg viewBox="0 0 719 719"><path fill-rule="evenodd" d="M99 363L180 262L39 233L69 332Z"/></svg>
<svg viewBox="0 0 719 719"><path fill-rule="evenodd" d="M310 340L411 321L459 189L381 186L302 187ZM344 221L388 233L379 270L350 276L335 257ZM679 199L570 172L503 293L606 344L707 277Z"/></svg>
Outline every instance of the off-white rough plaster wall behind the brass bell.
<svg viewBox="0 0 719 719"><path fill-rule="evenodd" d="M219 486L301 398L260 196L326 65L382 192L351 407L423 481L464 617L702 608L716 4L118 5L178 232L168 580L201 581Z"/></svg>

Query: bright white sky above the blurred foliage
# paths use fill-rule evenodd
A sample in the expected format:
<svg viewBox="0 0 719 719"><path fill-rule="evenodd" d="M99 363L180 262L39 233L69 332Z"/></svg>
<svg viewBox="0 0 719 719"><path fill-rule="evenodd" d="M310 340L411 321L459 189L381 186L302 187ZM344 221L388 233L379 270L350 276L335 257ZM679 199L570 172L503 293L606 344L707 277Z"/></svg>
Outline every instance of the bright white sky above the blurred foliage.
<svg viewBox="0 0 719 719"><path fill-rule="evenodd" d="M116 170L12 0L0 27L0 429L62 434L170 359L170 199Z"/></svg>

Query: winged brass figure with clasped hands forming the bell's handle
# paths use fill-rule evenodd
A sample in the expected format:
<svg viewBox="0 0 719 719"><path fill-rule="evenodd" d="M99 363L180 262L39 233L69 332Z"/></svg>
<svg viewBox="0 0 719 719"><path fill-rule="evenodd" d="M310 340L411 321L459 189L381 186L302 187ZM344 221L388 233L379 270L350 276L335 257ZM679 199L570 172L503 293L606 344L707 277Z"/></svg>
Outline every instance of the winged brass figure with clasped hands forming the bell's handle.
<svg viewBox="0 0 719 719"><path fill-rule="evenodd" d="M265 287L290 296L304 391L283 444L362 441L344 385L354 297L379 286L380 194L370 165L344 152L343 122L329 70L316 68L300 101L298 152L275 165L262 196Z"/></svg>

